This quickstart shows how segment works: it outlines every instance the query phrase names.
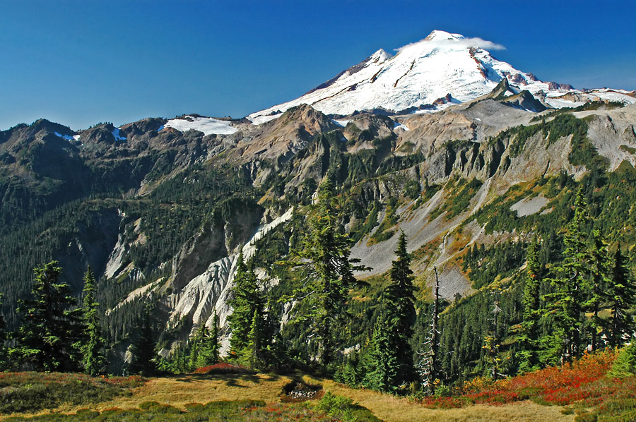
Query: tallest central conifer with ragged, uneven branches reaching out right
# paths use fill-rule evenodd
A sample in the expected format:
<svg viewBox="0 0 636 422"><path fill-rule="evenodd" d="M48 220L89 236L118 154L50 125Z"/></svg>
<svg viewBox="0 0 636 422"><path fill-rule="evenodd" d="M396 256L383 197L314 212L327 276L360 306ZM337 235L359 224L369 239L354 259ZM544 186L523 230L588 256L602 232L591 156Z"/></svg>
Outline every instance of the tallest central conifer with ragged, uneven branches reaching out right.
<svg viewBox="0 0 636 422"><path fill-rule="evenodd" d="M326 179L318 190L318 203L309 217L309 233L295 254L295 265L302 267L307 282L294 292L304 309L298 321L310 323L310 335L317 339L318 361L327 367L334 360L338 339L337 330L348 316L346 303L349 290L357 281L354 270L365 267L353 265L358 260L349 258L351 240L340 224L334 188Z"/></svg>

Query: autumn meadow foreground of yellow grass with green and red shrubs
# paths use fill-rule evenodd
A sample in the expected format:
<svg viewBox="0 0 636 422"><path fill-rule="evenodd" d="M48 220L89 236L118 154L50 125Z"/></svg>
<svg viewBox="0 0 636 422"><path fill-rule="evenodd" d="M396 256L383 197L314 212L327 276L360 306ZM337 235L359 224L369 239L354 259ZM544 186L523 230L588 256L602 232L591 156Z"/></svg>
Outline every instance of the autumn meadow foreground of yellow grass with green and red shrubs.
<svg viewBox="0 0 636 422"><path fill-rule="evenodd" d="M611 378L616 351L497 382L477 378L450 397L413 399L307 375L194 373L144 380L0 374L0 419L11 421L636 421L636 377ZM317 399L283 392L299 381ZM323 395L324 394L324 395ZM322 397L322 398L319 398ZM29 413L19 413L29 412Z"/></svg>

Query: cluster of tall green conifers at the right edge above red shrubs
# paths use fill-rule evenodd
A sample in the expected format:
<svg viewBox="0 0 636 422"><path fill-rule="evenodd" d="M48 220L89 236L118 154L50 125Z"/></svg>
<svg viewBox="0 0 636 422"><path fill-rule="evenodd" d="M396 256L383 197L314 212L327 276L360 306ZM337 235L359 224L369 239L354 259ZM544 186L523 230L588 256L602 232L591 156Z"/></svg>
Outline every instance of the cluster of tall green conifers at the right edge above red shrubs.
<svg viewBox="0 0 636 422"><path fill-rule="evenodd" d="M636 286L620 244L611 252L593 223L579 190L560 263L542 259L541 239L527 248L518 351L522 372L630 342Z"/></svg>

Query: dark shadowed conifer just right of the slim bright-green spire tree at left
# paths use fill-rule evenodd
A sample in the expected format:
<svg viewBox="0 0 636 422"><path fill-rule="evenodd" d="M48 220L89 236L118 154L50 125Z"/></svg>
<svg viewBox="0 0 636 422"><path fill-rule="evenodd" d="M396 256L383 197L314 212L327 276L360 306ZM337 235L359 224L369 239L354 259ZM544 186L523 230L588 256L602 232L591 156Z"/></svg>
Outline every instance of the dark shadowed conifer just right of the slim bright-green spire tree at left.
<svg viewBox="0 0 636 422"><path fill-rule="evenodd" d="M150 376L157 372L155 334L151 320L153 308L154 306L147 303L137 320L135 330L137 337L130 346L133 358L129 373Z"/></svg>

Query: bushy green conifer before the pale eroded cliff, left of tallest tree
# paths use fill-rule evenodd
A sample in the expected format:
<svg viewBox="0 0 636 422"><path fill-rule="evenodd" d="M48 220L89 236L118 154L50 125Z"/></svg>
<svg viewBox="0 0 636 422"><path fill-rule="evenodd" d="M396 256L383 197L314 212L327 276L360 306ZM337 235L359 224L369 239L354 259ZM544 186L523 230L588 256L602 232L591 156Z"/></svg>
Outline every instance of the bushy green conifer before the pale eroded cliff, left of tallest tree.
<svg viewBox="0 0 636 422"><path fill-rule="evenodd" d="M230 337L230 350L237 356L241 356L247 349L249 330L252 328L254 313L259 318L264 316L264 299L259 291L258 279L252 267L247 267L243 260L243 253L238 257L235 286L232 288L232 313L228 316L228 324L232 337Z"/></svg>

